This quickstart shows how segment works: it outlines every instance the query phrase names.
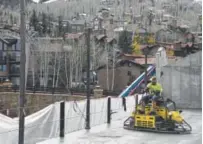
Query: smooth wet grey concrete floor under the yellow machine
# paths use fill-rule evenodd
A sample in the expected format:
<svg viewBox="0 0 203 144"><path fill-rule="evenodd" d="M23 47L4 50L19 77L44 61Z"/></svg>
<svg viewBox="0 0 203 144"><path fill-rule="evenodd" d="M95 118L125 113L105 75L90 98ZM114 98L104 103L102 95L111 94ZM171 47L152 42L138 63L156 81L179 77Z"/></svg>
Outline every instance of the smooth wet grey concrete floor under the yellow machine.
<svg viewBox="0 0 203 144"><path fill-rule="evenodd" d="M192 126L191 134L158 134L152 132L130 131L123 129L123 120L112 121L92 127L90 131L67 134L64 139L54 138L38 144L201 144L202 111L183 111L185 120Z"/></svg>

